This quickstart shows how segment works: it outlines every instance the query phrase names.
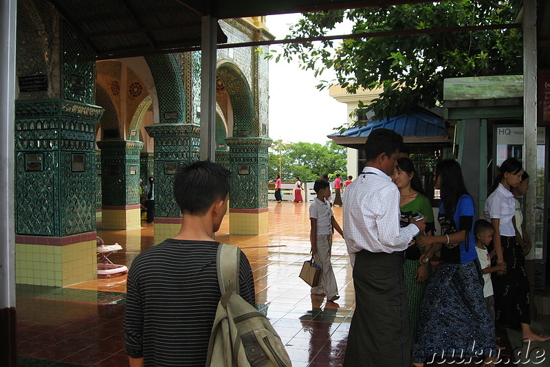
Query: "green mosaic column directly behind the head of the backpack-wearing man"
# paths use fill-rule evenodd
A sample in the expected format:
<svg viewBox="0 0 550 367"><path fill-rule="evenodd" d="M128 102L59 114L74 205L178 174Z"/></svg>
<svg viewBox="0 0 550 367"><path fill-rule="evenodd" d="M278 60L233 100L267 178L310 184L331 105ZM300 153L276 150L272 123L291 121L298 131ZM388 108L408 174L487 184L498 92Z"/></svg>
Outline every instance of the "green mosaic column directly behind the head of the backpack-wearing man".
<svg viewBox="0 0 550 367"><path fill-rule="evenodd" d="M174 199L174 175L179 167L199 160L200 126L155 124L145 128L155 140L155 244L179 232L181 213Z"/></svg>

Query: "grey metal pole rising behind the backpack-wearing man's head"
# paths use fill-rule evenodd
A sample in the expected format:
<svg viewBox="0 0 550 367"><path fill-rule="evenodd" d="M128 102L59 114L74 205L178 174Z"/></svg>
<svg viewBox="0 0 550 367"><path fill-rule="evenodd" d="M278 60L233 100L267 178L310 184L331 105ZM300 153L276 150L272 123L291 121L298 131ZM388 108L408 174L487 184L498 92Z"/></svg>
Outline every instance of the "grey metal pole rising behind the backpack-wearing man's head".
<svg viewBox="0 0 550 367"><path fill-rule="evenodd" d="M216 43L218 20L202 17L201 40L201 159L215 160Z"/></svg>

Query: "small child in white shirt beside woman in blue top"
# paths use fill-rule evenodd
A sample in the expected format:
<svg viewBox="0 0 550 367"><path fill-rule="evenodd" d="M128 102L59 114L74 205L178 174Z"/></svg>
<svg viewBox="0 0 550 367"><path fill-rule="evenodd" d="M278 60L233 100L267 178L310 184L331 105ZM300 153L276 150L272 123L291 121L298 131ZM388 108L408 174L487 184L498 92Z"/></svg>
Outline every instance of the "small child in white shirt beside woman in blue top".
<svg viewBox="0 0 550 367"><path fill-rule="evenodd" d="M491 282L491 273L495 271L504 270L506 268L505 263L491 266L491 256L487 252L487 245L491 243L493 239L494 228L493 225L485 219L478 219L474 223L474 239L476 241L476 252L481 265L481 273L483 274L483 297L485 297L485 303L487 309L491 314L493 321L495 320L494 314L494 296L493 285Z"/></svg>

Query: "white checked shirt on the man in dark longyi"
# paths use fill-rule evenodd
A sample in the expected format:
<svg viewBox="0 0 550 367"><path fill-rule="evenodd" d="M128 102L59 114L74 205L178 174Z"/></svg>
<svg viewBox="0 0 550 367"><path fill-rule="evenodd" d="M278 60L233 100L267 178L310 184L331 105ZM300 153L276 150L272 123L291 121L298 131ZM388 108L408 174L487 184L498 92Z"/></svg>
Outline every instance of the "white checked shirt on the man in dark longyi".
<svg viewBox="0 0 550 367"><path fill-rule="evenodd" d="M344 234L351 264L362 249L403 251L420 231L414 224L399 227L399 189L381 170L365 167L346 190Z"/></svg>

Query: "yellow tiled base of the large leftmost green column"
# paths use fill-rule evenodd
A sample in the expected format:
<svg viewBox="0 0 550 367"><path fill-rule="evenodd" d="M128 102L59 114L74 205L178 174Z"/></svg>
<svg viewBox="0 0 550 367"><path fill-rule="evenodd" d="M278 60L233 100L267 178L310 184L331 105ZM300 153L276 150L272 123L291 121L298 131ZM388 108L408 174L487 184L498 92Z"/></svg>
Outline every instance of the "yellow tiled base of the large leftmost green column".
<svg viewBox="0 0 550 367"><path fill-rule="evenodd" d="M96 279L96 254L96 240L65 246L16 243L16 282L65 287Z"/></svg>

